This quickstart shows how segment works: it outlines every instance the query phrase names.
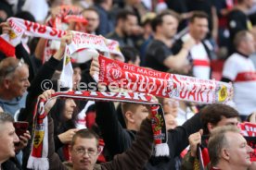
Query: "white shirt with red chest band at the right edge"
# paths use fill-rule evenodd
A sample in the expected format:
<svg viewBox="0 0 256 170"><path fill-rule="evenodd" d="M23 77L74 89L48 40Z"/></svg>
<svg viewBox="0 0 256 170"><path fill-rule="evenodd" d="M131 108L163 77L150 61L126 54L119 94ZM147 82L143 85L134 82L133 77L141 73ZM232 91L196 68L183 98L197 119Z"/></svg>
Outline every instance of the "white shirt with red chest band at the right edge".
<svg viewBox="0 0 256 170"><path fill-rule="evenodd" d="M234 102L240 115L256 111L256 72L251 59L231 55L224 63L223 77L234 82Z"/></svg>

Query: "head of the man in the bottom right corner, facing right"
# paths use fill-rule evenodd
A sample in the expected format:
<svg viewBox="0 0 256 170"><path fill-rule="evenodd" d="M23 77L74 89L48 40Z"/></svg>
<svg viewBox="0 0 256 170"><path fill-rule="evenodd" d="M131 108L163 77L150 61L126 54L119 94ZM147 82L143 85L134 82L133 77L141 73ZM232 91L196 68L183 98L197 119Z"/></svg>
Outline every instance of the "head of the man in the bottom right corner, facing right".
<svg viewBox="0 0 256 170"><path fill-rule="evenodd" d="M208 143L211 169L247 170L253 150L234 126L215 128Z"/></svg>

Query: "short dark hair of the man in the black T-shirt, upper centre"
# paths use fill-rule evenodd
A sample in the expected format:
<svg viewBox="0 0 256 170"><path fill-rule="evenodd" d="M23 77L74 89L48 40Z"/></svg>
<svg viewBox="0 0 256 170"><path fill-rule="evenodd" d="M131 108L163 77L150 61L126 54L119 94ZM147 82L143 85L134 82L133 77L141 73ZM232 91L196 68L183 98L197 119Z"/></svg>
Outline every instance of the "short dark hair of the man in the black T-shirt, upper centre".
<svg viewBox="0 0 256 170"><path fill-rule="evenodd" d="M173 16L173 18L176 18L178 21L180 20L179 15L173 10L164 10L151 21L151 27L154 32L157 30L157 27L162 24L162 18L164 16Z"/></svg>

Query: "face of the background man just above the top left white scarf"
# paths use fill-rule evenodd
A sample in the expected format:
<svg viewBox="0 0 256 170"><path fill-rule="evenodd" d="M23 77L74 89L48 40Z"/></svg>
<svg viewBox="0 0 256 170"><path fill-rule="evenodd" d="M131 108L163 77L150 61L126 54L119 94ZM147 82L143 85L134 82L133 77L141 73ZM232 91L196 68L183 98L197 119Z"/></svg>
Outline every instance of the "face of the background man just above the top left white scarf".
<svg viewBox="0 0 256 170"><path fill-rule="evenodd" d="M86 25L86 31L88 33L95 32L99 25L99 18L96 11L93 11L93 10L84 11L83 17L86 18L86 20L88 21Z"/></svg>

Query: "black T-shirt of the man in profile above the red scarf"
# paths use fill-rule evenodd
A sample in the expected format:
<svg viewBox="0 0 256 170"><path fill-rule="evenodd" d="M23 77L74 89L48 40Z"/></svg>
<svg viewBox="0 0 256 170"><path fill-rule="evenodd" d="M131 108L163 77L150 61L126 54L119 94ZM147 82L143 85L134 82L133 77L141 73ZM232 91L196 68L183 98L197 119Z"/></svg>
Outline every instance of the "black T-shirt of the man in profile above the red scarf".
<svg viewBox="0 0 256 170"><path fill-rule="evenodd" d="M145 67L166 72L169 68L163 65L163 61L170 55L173 55L173 52L165 43L153 40L147 46Z"/></svg>

